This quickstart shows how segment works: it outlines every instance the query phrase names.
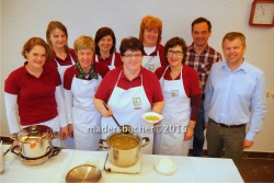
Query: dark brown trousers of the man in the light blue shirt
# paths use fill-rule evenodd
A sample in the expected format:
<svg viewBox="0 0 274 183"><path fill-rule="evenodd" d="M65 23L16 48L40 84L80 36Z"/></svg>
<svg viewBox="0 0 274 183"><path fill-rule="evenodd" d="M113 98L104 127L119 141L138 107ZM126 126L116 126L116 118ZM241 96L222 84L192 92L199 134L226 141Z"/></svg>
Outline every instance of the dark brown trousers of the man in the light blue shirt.
<svg viewBox="0 0 274 183"><path fill-rule="evenodd" d="M232 159L239 168L242 159L244 136L246 125L227 128L209 119L206 131L207 156L221 158L222 149L225 148L225 158Z"/></svg>

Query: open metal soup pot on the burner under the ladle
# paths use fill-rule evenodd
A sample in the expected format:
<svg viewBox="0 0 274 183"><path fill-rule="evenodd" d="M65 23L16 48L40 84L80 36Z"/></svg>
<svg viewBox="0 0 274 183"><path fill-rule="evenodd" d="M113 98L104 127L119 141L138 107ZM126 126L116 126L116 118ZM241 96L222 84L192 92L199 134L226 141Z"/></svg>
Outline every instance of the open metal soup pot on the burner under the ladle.
<svg viewBox="0 0 274 183"><path fill-rule="evenodd" d="M136 146L123 149L113 146L112 140L115 138L134 138L137 141ZM146 140L144 144L142 141ZM104 147L103 142L106 142L109 147ZM148 137L140 137L138 134L129 133L114 133L107 136L106 140L101 139L99 146L109 150L109 158L111 162L117 167L130 167L134 165L140 158L141 148L149 144Z"/></svg>

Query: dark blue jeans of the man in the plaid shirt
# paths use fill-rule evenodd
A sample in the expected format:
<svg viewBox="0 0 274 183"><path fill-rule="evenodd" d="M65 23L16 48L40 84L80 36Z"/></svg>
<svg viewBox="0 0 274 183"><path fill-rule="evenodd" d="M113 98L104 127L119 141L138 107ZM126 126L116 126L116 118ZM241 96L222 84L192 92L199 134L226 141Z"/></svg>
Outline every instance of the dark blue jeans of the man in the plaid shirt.
<svg viewBox="0 0 274 183"><path fill-rule="evenodd" d="M194 128L194 138L193 138L193 157L203 157L203 147L205 142L205 110L204 110L204 100L201 101L201 107L198 113L198 118Z"/></svg>

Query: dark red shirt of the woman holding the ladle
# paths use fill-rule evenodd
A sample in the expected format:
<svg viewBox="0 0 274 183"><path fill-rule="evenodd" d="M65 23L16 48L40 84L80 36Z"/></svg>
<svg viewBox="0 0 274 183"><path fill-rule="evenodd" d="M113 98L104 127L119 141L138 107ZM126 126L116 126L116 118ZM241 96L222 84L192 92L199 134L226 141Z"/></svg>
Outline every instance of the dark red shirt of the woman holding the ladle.
<svg viewBox="0 0 274 183"><path fill-rule="evenodd" d="M109 73L104 77L104 79L99 85L99 89L95 94L95 99L101 99L105 102L109 101L122 70L123 70L123 66L109 71ZM142 79L140 77L142 77ZM145 93L148 98L148 101L151 104L163 101L161 87L157 79L157 76L144 67L140 68L139 75L132 81L128 80L126 76L124 75L124 72L122 71L117 87L124 90L128 90L130 88L141 85L141 81L142 81L142 87L145 89Z"/></svg>

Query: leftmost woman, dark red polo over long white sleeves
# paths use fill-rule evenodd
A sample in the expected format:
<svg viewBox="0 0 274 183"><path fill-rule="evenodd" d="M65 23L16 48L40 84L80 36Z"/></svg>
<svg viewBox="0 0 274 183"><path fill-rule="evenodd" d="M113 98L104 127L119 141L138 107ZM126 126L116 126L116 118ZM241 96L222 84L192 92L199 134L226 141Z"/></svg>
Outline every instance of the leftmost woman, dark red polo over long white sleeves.
<svg viewBox="0 0 274 183"><path fill-rule="evenodd" d="M10 131L19 133L31 125L46 125L59 131L67 121L59 73L45 65L50 49L42 38L32 37L24 44L22 54L27 61L4 82ZM61 130L59 136L68 136L67 130ZM53 146L61 147L60 138L55 138Z"/></svg>

